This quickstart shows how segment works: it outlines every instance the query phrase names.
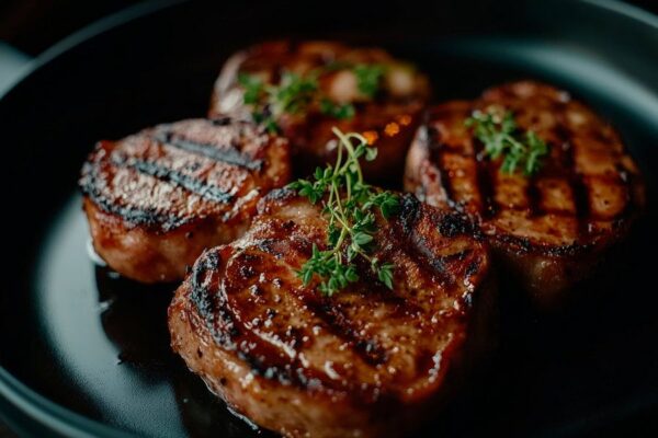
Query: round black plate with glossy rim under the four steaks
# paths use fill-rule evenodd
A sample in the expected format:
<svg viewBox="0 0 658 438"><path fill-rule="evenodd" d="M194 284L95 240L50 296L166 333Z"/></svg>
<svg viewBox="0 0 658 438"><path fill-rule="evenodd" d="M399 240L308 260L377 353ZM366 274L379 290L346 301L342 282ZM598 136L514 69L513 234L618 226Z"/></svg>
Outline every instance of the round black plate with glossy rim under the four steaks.
<svg viewBox="0 0 658 438"><path fill-rule="evenodd" d="M430 72L438 100L552 81L619 127L650 188L636 234L567 314L503 302L499 353L423 435L655 433L658 20L595 1L228 3L147 4L104 21L42 58L0 102L2 416L35 436L258 434L169 350L174 286L139 287L90 260L76 178L97 139L203 115L232 50L304 35L383 44Z"/></svg>

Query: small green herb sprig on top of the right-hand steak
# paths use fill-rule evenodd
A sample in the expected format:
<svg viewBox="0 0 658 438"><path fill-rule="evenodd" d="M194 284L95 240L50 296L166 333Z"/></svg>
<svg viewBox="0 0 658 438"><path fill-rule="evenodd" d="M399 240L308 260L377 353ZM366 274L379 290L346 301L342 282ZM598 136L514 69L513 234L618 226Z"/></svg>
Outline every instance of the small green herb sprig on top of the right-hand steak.
<svg viewBox="0 0 658 438"><path fill-rule="evenodd" d="M509 111L502 116L495 111L475 111L465 124L485 145L487 155L494 160L504 155L500 166L504 173L522 169L525 175L532 175L542 166L541 159L548 154L546 142L533 130L521 132Z"/></svg>

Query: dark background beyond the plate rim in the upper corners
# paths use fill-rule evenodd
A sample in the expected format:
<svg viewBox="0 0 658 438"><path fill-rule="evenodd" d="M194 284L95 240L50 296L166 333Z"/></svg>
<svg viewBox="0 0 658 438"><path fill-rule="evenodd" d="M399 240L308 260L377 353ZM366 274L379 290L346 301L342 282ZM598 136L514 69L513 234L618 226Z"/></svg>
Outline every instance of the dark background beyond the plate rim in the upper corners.
<svg viewBox="0 0 658 438"><path fill-rule="evenodd" d="M446 0L454 1L454 0ZM658 13L657 0L631 3ZM107 14L139 3L135 0L1 0L0 43L27 57L36 57L53 44ZM496 0L474 1L496 4ZM0 70L9 69L0 54ZM13 437L0 424L0 438Z"/></svg>

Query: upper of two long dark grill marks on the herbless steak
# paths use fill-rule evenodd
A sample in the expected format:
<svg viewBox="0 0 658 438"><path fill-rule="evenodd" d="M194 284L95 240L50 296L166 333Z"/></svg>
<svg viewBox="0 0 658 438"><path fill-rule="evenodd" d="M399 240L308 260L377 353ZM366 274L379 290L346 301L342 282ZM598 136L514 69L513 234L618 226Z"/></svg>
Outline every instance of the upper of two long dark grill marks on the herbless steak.
<svg viewBox="0 0 658 438"><path fill-rule="evenodd" d="M220 120L217 120L220 122ZM236 148L217 147L213 143L202 143L188 138L177 137L173 132L164 131L152 136L152 139L167 146L184 150L185 152L195 153L209 158L214 161L220 161L227 164L246 168L250 171L259 171L262 168L262 160L251 160L249 157L240 153Z"/></svg>

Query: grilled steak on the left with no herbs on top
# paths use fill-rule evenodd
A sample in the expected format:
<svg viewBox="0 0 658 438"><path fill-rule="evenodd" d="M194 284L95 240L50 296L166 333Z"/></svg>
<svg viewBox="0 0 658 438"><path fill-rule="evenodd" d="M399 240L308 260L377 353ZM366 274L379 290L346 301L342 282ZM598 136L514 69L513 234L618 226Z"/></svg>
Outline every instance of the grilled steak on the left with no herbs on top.
<svg viewBox="0 0 658 438"><path fill-rule="evenodd" d="M285 139L217 117L99 142L80 187L97 253L128 278L157 283L182 279L204 249L241 235L258 200L290 177Z"/></svg>

